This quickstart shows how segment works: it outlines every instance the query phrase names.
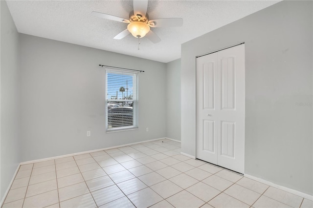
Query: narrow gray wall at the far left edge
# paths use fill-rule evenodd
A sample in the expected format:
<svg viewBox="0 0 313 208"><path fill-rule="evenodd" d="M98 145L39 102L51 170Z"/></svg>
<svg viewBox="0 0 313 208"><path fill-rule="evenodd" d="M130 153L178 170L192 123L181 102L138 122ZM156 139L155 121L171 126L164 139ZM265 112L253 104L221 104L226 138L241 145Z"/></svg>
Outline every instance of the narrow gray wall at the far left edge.
<svg viewBox="0 0 313 208"><path fill-rule="evenodd" d="M0 1L0 199L20 163L19 144L19 36L6 2Z"/></svg>

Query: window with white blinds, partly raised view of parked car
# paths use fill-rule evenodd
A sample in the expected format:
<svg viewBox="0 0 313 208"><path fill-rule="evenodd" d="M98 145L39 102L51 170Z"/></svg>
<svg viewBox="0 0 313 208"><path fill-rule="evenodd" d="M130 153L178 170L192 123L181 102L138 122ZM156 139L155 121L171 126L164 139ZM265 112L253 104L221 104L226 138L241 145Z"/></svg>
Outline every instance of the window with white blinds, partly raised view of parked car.
<svg viewBox="0 0 313 208"><path fill-rule="evenodd" d="M138 128L138 73L106 68L106 130Z"/></svg>

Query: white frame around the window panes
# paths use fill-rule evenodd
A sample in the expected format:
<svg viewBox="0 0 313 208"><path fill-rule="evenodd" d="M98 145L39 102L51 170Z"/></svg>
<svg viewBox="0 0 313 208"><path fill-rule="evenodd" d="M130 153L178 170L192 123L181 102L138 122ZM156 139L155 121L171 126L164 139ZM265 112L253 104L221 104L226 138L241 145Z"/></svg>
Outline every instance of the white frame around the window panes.
<svg viewBox="0 0 313 208"><path fill-rule="evenodd" d="M128 75L133 77L133 99L109 99L109 90L108 90L108 73L118 74L118 75ZM125 70L121 68L105 68L105 112L106 112L106 132L115 132L115 131L124 131L138 129L138 92L139 92L139 78L138 72ZM109 102L133 102L133 125L122 126L122 127L109 127L108 122L108 105Z"/></svg>

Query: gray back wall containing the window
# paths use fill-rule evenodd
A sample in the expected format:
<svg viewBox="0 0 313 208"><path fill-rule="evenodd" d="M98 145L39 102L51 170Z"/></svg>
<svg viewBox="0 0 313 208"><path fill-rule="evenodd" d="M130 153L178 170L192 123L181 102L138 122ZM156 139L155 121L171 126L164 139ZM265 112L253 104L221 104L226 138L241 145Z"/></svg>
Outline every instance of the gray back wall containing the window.
<svg viewBox="0 0 313 208"><path fill-rule="evenodd" d="M166 137L165 63L24 34L20 42L22 161ZM145 71L139 129L106 133L105 68L98 64Z"/></svg>

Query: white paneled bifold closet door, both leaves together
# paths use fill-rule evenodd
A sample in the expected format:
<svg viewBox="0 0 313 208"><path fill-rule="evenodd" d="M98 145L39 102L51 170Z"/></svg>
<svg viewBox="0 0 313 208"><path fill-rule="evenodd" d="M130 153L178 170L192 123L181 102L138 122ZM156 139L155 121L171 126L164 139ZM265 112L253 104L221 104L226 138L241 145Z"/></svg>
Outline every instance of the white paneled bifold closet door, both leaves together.
<svg viewBox="0 0 313 208"><path fill-rule="evenodd" d="M197 58L197 158L244 173L244 44Z"/></svg>

